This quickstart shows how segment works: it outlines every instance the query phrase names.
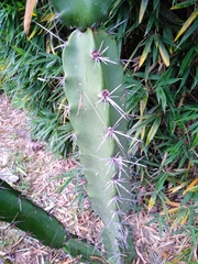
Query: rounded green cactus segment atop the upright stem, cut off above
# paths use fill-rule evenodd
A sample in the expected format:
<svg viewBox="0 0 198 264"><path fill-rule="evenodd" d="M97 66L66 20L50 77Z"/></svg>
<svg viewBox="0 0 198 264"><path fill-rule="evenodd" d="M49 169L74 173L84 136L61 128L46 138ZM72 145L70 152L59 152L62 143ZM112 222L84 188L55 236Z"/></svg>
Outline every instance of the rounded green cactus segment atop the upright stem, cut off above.
<svg viewBox="0 0 198 264"><path fill-rule="evenodd" d="M81 31L106 21L114 2L116 0L52 0L63 23Z"/></svg>

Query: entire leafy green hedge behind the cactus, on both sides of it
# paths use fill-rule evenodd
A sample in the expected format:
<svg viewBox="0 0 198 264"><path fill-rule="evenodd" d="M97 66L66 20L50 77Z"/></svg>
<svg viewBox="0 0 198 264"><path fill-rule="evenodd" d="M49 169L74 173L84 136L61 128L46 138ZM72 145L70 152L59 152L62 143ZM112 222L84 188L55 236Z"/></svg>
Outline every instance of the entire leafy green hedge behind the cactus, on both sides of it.
<svg viewBox="0 0 198 264"><path fill-rule="evenodd" d="M101 26L113 34L124 68L129 154L136 204L161 229L179 226L197 246L198 7L196 0L118 0ZM73 31L50 1L38 2L30 35L25 1L0 3L1 89L31 117L32 136L73 156L62 51ZM140 140L139 142L136 141ZM70 176L72 177L72 176ZM161 211L161 213L158 213ZM193 250L186 253L190 261Z"/></svg>

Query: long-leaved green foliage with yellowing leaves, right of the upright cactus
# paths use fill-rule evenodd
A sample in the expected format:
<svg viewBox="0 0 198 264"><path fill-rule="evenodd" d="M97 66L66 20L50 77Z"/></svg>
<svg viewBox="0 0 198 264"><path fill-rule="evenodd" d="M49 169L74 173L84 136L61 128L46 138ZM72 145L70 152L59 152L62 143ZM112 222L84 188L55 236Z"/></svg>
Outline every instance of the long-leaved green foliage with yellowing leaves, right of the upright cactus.
<svg viewBox="0 0 198 264"><path fill-rule="evenodd" d="M129 152L144 165L134 166L136 185L146 186L148 211L161 204L170 222L185 224L197 210L197 6L158 0L128 4L125 30L116 30L116 37L124 43Z"/></svg>

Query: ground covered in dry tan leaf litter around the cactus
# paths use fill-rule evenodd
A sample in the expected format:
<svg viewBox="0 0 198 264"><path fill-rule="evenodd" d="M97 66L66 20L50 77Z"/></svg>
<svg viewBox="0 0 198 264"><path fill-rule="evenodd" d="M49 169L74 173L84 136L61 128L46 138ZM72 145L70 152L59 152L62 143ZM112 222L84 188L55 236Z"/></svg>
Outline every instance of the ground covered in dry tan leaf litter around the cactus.
<svg viewBox="0 0 198 264"><path fill-rule="evenodd" d="M75 167L70 160L54 160L45 145L32 142L26 131L28 118L12 107L4 95L0 95L0 177L15 186L37 206L55 216L66 229L81 239L95 243L101 229L101 221L90 209L88 200L84 210L70 205L75 199L74 185L59 194L64 179L54 179ZM128 217L135 239L135 264L176 263L173 258L190 246L190 238L184 234L170 235L158 226L147 226L152 216L141 211ZM168 262L165 262L168 261ZM0 223L0 264L69 264L72 260L64 250L43 246L24 232ZM177 262L185 263L185 262Z"/></svg>

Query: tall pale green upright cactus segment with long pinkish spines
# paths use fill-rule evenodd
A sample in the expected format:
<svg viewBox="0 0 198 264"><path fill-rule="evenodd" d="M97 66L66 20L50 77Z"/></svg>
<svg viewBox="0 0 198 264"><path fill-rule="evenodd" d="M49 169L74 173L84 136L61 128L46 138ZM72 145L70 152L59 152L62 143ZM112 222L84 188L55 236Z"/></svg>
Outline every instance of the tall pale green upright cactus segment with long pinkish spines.
<svg viewBox="0 0 198 264"><path fill-rule="evenodd" d="M108 263L131 263L132 235L121 220L130 208L123 69L114 40L103 31L75 31L63 53L69 120L94 210L101 217ZM121 135L123 134L123 135Z"/></svg>

